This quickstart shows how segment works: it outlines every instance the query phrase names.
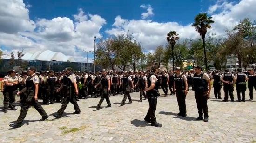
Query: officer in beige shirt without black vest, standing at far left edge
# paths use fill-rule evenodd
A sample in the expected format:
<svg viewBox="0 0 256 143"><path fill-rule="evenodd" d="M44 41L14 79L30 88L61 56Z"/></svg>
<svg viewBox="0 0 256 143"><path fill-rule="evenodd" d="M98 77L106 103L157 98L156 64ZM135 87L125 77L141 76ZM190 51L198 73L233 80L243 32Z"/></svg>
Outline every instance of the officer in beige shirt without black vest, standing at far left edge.
<svg viewBox="0 0 256 143"><path fill-rule="evenodd" d="M15 108L15 96L17 93L18 78L15 76L15 70L9 70L7 73L8 75L4 77L4 113L8 112L8 107L12 110L17 110Z"/></svg>

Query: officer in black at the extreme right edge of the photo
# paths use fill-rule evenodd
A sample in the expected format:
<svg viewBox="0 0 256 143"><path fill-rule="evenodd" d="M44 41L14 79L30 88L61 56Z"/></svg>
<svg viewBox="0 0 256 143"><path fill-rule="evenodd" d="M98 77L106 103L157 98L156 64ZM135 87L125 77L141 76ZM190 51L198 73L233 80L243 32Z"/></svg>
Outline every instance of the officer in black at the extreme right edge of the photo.
<svg viewBox="0 0 256 143"><path fill-rule="evenodd" d="M249 96L250 101L253 100L253 88L256 91L256 74L254 74L252 69L249 69L248 74L248 89L249 89Z"/></svg>

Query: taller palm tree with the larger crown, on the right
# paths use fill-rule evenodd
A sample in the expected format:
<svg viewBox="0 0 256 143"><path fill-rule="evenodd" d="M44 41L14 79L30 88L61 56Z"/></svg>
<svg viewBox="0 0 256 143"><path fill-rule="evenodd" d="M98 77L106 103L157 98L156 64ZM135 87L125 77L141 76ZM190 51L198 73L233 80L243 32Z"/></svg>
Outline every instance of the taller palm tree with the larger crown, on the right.
<svg viewBox="0 0 256 143"><path fill-rule="evenodd" d="M203 52L204 52L204 64L205 68L208 70L207 66L207 58L206 58L206 50L205 50L205 35L207 33L207 28L211 28L210 24L214 23L212 17L207 17L207 13L199 13L195 16L194 23L192 24L195 27L195 30L200 34L202 37L203 42Z"/></svg>

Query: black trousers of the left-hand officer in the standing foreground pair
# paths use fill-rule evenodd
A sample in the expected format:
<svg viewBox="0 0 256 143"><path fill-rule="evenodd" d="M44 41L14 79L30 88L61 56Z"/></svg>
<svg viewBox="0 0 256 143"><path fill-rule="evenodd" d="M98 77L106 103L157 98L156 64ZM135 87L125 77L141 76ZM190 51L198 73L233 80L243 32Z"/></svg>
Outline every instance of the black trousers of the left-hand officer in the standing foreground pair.
<svg viewBox="0 0 256 143"><path fill-rule="evenodd" d="M184 90L176 90L176 97L177 97L177 102L179 105L179 110L180 113L183 115L186 115L187 110L186 110L186 95L184 93Z"/></svg>

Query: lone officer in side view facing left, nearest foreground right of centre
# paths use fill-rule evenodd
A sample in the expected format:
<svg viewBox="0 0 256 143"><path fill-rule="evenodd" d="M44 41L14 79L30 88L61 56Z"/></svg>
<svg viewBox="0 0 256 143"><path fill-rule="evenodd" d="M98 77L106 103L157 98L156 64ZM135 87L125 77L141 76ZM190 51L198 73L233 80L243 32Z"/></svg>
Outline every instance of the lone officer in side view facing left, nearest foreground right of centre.
<svg viewBox="0 0 256 143"><path fill-rule="evenodd" d="M148 98L149 109L145 121L151 122L151 126L162 127L162 124L156 122L155 110L157 105L158 86L160 81L157 79L156 73L158 72L157 65L151 67L151 73L148 75L148 87L145 88L146 95Z"/></svg>

